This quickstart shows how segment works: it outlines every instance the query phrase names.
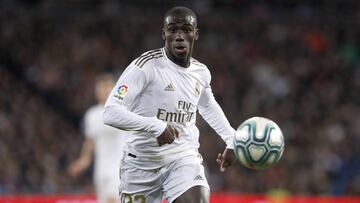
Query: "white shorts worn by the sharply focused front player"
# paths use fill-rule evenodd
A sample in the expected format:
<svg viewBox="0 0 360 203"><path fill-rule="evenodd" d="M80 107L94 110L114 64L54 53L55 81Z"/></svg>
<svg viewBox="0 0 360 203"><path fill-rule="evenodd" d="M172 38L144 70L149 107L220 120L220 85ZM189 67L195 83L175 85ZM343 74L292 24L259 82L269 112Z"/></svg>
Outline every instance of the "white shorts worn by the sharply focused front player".
<svg viewBox="0 0 360 203"><path fill-rule="evenodd" d="M122 203L169 203L193 186L209 184L200 155L177 159L155 170L138 169L126 161L120 170L120 199Z"/></svg>

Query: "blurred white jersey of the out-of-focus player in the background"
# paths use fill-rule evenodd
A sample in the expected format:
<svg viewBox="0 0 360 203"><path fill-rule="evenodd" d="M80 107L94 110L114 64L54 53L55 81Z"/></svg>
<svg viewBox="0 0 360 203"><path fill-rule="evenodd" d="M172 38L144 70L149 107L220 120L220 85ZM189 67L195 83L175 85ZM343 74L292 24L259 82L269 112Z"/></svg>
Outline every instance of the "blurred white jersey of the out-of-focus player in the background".
<svg viewBox="0 0 360 203"><path fill-rule="evenodd" d="M119 175L120 160L125 145L126 132L105 125L102 121L104 107L100 104L92 106L84 116L84 133L95 142L94 177Z"/></svg>

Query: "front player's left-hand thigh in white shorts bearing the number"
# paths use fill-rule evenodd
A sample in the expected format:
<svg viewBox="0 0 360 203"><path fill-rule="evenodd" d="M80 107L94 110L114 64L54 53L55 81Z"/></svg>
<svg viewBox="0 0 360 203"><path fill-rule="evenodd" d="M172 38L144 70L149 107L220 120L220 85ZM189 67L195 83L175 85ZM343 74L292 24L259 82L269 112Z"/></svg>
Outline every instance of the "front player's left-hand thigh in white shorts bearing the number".
<svg viewBox="0 0 360 203"><path fill-rule="evenodd" d="M161 203L161 177L158 170L141 170L123 162L120 170L121 203Z"/></svg>

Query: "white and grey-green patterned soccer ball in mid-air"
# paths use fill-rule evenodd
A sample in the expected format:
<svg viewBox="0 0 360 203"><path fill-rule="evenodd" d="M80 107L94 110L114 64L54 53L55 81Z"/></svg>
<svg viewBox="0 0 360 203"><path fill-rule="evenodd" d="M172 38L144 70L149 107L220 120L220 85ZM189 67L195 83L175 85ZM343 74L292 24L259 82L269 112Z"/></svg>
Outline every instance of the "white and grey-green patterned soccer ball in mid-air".
<svg viewBox="0 0 360 203"><path fill-rule="evenodd" d="M284 136L279 126L263 117L245 120L234 137L237 159L251 169L265 169L274 165L281 158L284 146Z"/></svg>

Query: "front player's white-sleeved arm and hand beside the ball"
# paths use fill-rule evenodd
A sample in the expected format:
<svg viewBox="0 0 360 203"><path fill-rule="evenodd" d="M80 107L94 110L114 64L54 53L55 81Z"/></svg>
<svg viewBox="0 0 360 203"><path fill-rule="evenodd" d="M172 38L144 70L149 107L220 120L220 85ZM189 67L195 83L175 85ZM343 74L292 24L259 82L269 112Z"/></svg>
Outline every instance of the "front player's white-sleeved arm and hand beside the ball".
<svg viewBox="0 0 360 203"><path fill-rule="evenodd" d="M220 165L220 170L225 171L225 169L230 166L236 159L233 143L235 130L231 127L223 110L216 102L210 85L204 88L202 91L198 109L204 120L215 130L217 134L221 136L221 138L226 143L224 152L219 153L216 159L217 163Z"/></svg>

